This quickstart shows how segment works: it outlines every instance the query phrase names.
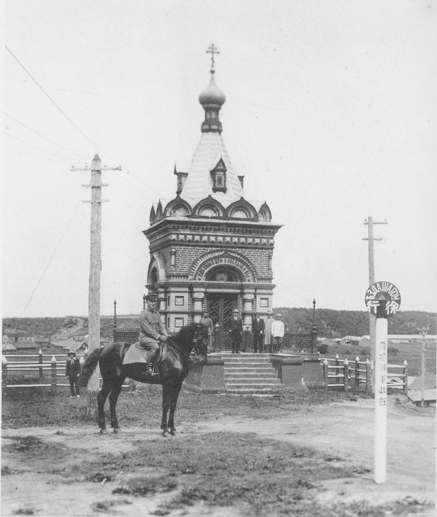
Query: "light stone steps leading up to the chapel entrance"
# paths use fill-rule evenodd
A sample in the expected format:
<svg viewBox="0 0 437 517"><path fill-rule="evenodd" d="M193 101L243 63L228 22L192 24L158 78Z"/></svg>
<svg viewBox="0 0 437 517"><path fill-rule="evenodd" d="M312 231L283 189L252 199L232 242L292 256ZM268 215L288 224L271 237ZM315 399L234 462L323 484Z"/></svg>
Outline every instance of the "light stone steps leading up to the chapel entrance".
<svg viewBox="0 0 437 517"><path fill-rule="evenodd" d="M223 354L226 393L264 394L285 389L269 354Z"/></svg>

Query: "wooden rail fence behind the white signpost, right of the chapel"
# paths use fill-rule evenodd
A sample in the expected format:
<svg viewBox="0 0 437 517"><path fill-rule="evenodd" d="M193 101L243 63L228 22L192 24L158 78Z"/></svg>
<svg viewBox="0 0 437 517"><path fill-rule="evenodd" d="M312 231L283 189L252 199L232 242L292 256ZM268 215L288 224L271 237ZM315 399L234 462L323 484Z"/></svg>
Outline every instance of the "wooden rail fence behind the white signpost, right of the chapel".
<svg viewBox="0 0 437 517"><path fill-rule="evenodd" d="M349 361L347 358L339 359L336 354L335 359L321 358L321 364L327 387L343 388L347 392L352 386L358 388L361 384L365 384L366 392L370 393L369 359L360 361L360 358L356 356L355 361ZM402 389L407 394L407 365L407 361L404 361L403 365L387 365L387 389ZM399 372L400 369L402 373Z"/></svg>

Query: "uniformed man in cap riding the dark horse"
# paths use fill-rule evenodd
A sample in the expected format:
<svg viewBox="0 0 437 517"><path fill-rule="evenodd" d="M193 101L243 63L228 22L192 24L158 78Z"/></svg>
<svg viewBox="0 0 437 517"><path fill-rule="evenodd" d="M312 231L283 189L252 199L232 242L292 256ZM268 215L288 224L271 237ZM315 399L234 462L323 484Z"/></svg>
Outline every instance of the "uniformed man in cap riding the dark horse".
<svg viewBox="0 0 437 517"><path fill-rule="evenodd" d="M156 294L147 294L145 296L147 307L140 312L139 316L139 345L141 348L150 350L145 371L148 375L153 375L153 361L159 351L159 345L167 341L167 330L165 330L159 312L155 310L157 301Z"/></svg>

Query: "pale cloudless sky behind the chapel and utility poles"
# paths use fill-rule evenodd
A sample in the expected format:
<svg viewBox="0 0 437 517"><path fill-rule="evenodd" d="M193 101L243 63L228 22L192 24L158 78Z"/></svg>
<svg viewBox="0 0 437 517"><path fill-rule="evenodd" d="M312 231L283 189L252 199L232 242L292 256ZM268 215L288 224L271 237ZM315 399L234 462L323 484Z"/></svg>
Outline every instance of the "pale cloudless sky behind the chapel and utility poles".
<svg viewBox="0 0 437 517"><path fill-rule="evenodd" d="M416 0L7 0L3 317L88 314L90 165L103 172L101 314L142 309L152 203L201 137L223 139L276 234L274 307L436 311L437 5Z"/></svg>

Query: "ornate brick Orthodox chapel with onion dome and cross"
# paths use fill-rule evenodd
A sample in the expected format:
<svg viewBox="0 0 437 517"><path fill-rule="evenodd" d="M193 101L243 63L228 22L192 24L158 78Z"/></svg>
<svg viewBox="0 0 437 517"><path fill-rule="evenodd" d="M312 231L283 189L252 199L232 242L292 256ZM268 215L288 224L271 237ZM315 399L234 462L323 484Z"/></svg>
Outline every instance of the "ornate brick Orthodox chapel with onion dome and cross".
<svg viewBox="0 0 437 517"><path fill-rule="evenodd" d="M150 210L147 285L159 297L170 332L210 312L216 330L228 330L232 311L251 325L255 312L272 310L274 236L266 201L245 199L244 170L232 164L222 138L226 97L211 80L199 95L205 112L201 139L189 163L176 162L176 197ZM212 52L211 52L212 51ZM217 327L216 325L219 325Z"/></svg>

